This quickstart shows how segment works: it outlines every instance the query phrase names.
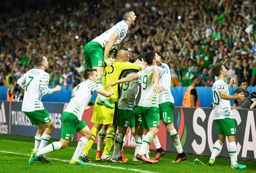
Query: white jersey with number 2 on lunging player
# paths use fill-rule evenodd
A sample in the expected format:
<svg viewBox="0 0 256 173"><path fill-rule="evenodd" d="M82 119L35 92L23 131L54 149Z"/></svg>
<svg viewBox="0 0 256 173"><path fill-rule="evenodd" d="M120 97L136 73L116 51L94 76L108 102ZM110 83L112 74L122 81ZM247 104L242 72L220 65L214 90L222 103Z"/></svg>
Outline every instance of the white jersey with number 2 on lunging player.
<svg viewBox="0 0 256 173"><path fill-rule="evenodd" d="M90 102L92 94L96 89L100 89L100 87L90 80L78 84L75 87L70 102L64 112L75 114L78 120L81 121L84 109Z"/></svg>

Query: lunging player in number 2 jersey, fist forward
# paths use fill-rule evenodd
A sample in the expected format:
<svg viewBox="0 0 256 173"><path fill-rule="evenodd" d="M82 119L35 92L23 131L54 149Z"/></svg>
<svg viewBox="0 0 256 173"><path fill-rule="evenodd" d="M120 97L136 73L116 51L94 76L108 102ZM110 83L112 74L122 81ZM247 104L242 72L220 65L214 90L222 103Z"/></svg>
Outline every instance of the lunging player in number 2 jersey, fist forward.
<svg viewBox="0 0 256 173"><path fill-rule="evenodd" d="M75 87L74 92L70 98L70 103L68 103L67 108L62 114L63 125L60 141L53 142L42 149L37 149L29 159L29 165L31 165L43 154L66 148L76 132L83 136L78 141L76 151L70 160L70 164L88 165L88 163L84 163L81 159L78 158L83 151L84 146L86 146L92 136L91 130L82 120L83 113L88 109L87 105L92 97L93 92L102 94L105 97L110 97L114 94L114 91L112 89L105 91L97 86L96 82L98 76L96 69L87 68L84 70L83 76L85 81Z"/></svg>

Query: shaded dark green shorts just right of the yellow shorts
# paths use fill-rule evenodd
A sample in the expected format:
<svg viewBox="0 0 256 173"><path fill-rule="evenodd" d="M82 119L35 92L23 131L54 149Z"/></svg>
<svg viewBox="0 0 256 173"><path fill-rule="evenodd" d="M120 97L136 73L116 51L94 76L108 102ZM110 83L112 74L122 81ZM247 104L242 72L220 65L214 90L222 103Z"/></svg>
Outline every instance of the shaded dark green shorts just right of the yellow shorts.
<svg viewBox="0 0 256 173"><path fill-rule="evenodd" d="M118 116L117 125L119 125L120 127L129 127L131 122L131 117L133 116L133 111L118 109L118 113L119 113L119 116Z"/></svg>

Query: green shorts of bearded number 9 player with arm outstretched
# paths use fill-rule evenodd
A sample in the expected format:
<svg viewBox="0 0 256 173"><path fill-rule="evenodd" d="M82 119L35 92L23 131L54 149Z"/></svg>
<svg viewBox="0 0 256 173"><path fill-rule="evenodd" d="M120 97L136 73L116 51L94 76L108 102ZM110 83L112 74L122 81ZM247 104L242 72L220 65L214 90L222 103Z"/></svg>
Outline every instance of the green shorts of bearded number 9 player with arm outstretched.
<svg viewBox="0 0 256 173"><path fill-rule="evenodd" d="M159 127L159 108L139 106L139 110L141 111L141 120L143 128Z"/></svg>

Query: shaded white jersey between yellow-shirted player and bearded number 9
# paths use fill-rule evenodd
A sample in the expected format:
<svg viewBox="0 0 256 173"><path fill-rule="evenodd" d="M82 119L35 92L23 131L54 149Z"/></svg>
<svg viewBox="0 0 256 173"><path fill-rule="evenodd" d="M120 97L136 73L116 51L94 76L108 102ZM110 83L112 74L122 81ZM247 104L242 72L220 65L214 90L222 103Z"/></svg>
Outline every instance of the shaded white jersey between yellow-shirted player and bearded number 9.
<svg viewBox="0 0 256 173"><path fill-rule="evenodd" d="M134 74L136 74L136 72L130 72L126 75L126 77ZM118 109L133 110L135 96L138 93L138 84L138 80L123 83L121 97L118 100Z"/></svg>

